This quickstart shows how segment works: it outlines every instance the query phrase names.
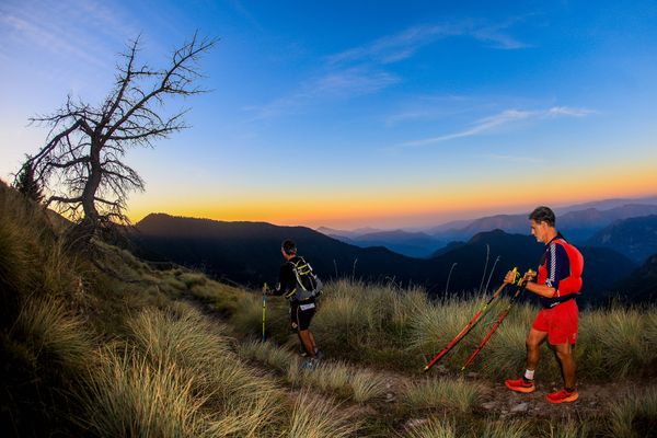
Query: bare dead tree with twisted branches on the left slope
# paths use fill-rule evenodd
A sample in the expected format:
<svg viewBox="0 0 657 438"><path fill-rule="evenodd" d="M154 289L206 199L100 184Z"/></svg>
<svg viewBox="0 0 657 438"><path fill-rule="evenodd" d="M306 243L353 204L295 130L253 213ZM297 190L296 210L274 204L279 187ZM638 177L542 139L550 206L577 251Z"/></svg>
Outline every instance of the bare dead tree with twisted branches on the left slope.
<svg viewBox="0 0 657 438"><path fill-rule="evenodd" d="M216 39L198 38L173 51L164 69L137 65L139 38L120 55L116 83L100 106L69 95L55 114L31 123L50 126L46 145L24 164L48 189L46 206L78 222L91 238L99 228L127 223L127 195L143 191L143 180L124 162L131 147L153 147L161 138L187 128L187 110L163 115L168 97L204 93L195 85L201 74L198 61ZM21 171L19 171L19 174Z"/></svg>

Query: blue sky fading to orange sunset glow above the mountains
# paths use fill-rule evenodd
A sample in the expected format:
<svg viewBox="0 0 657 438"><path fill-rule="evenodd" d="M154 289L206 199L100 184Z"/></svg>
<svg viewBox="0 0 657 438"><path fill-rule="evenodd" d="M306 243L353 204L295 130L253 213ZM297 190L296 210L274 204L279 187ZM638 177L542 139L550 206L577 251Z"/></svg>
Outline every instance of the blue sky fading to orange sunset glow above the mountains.
<svg viewBox="0 0 657 438"><path fill-rule="evenodd" d="M125 161L149 212L354 229L657 194L654 1L0 0L0 178L118 54L195 32L210 90Z"/></svg>

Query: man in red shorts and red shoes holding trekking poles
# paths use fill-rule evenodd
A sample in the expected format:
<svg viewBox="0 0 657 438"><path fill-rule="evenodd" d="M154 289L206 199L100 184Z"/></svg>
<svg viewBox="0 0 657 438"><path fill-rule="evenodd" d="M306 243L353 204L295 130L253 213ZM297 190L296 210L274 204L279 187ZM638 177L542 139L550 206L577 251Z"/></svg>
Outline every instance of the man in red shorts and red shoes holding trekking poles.
<svg viewBox="0 0 657 438"><path fill-rule="evenodd" d="M531 233L545 244L545 253L539 266L539 276L526 277L527 290L541 297L543 309L539 311L527 335L527 370L517 380L505 384L511 391L530 393L537 390L533 374L539 361L539 347L548 339L556 351L564 378L564 388L548 394L550 403L574 402L579 394L575 385L575 360L573 346L577 341L578 308L575 297L581 289L584 258L556 231L554 212L548 207L538 207L530 215ZM535 274L534 274L535 276ZM514 283L510 272L506 283Z"/></svg>

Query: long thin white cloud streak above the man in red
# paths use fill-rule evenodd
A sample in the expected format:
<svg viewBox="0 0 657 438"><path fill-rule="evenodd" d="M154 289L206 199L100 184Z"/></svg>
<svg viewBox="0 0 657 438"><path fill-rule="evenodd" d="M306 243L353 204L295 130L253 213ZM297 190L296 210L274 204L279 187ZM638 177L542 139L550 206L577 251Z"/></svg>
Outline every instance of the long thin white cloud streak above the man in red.
<svg viewBox="0 0 657 438"><path fill-rule="evenodd" d="M595 111L567 106L553 106L548 110L539 111L506 110L493 116L479 119L472 127L468 129L445 134L436 137L424 138L419 140L406 141L397 145L397 148L425 147L441 143L449 140L454 140L458 138L479 136L519 120L542 119L564 116L584 117L589 114L595 114Z"/></svg>

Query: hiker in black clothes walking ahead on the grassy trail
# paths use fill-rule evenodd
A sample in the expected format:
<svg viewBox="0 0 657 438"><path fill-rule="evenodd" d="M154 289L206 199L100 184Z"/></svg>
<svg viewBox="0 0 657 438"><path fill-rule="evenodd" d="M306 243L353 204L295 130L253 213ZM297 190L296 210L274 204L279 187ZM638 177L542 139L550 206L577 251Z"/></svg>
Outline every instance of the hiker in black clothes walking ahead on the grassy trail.
<svg viewBox="0 0 657 438"><path fill-rule="evenodd" d="M280 266L278 273L278 287L267 291L269 296L284 296L290 303L290 322L292 330L297 331L306 354L312 359L319 353L312 332L309 330L310 321L315 313L315 298L304 298L299 293L302 286L299 285L296 266L307 265L306 261L297 255L297 245L291 240L283 242L280 252L286 262Z"/></svg>

